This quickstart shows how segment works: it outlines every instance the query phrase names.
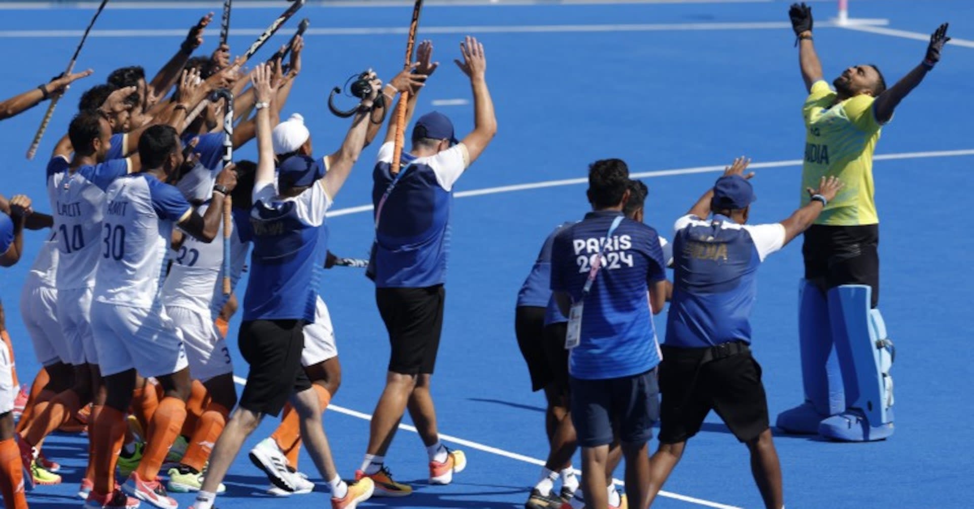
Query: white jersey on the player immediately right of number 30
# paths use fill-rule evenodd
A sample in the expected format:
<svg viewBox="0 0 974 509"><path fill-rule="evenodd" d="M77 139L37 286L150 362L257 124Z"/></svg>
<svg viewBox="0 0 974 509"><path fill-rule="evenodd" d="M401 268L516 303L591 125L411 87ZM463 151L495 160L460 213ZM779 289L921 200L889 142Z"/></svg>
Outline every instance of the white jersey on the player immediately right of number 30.
<svg viewBox="0 0 974 509"><path fill-rule="evenodd" d="M199 207L202 214L209 204ZM231 227L232 228L232 227ZM201 309L209 312L214 291L223 291L223 221L212 242L186 236L178 250L169 253L172 266L163 284L165 306ZM214 290L215 288L215 290Z"/></svg>

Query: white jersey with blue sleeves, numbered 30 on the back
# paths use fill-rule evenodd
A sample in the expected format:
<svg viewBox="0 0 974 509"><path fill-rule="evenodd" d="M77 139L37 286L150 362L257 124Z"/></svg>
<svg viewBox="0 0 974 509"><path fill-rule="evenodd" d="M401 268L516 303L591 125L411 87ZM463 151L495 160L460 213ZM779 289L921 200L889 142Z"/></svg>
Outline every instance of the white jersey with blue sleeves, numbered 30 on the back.
<svg viewBox="0 0 974 509"><path fill-rule="evenodd" d="M108 186L94 300L152 308L172 226L192 212L189 201L175 187L147 172L122 177Z"/></svg>

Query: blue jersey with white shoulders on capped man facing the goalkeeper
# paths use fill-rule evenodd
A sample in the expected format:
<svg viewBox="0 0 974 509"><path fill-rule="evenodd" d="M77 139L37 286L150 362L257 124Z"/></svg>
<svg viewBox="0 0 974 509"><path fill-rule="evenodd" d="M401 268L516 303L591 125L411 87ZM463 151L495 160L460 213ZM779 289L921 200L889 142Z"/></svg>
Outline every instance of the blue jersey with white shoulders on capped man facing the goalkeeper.
<svg viewBox="0 0 974 509"><path fill-rule="evenodd" d="M757 271L781 249L780 223L738 225L715 215L677 220L673 237L673 299L666 317L665 345L706 347L751 343L751 308Z"/></svg>

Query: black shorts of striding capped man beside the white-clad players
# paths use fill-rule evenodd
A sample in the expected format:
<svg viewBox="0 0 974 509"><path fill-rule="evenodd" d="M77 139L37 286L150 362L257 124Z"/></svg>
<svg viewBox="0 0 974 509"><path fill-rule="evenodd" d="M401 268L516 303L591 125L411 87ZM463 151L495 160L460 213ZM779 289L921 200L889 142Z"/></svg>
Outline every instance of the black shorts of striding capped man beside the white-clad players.
<svg viewBox="0 0 974 509"><path fill-rule="evenodd" d="M311 388L301 367L304 320L252 320L241 323L238 343L250 365L240 406L277 417L291 394Z"/></svg>

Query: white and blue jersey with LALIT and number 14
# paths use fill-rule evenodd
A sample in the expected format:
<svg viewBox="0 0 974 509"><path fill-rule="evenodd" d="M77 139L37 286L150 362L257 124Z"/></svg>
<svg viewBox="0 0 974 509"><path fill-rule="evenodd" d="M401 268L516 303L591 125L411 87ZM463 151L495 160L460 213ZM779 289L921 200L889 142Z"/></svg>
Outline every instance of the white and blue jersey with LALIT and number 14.
<svg viewBox="0 0 974 509"><path fill-rule="evenodd" d="M57 233L57 289L94 286L101 258L105 190L131 170L128 159L80 166L74 171L63 156L48 163L48 198Z"/></svg>

